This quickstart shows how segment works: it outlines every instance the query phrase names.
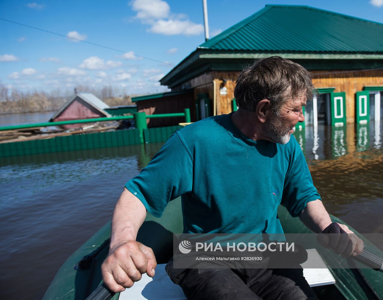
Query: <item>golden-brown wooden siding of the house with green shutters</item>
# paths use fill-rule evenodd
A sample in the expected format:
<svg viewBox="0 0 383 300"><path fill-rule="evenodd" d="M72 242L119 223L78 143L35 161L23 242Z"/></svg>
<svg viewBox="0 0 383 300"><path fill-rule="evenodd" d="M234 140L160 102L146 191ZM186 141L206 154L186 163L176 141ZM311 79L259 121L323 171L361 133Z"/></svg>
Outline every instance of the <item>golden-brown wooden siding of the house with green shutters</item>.
<svg viewBox="0 0 383 300"><path fill-rule="evenodd" d="M200 91L208 92L210 99L213 100L213 93L207 86L213 80L216 81L216 105L217 114L228 114L232 111L232 99L234 98L235 81L241 71L220 72L212 71L201 74L188 82L183 83L178 88L195 88L195 96ZM383 70L375 71L311 71L313 83L316 87L335 87L334 92L346 92L346 114L347 123L355 122L355 93L362 91L364 86L383 86ZM219 88L226 79L227 95L220 95ZM206 86L200 86L206 83ZM196 97L195 97L196 99ZM213 107L213 103L211 105Z"/></svg>

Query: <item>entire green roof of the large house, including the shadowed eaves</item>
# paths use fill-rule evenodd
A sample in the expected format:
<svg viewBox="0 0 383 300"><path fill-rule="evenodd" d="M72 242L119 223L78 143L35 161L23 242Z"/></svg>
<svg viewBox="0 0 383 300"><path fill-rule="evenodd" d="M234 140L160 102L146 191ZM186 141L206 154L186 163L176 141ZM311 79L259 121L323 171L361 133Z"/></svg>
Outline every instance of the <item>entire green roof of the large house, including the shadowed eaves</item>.
<svg viewBox="0 0 383 300"><path fill-rule="evenodd" d="M160 82L182 87L200 74L241 71L273 55L309 70L381 69L383 24L304 5L266 5L198 46Z"/></svg>

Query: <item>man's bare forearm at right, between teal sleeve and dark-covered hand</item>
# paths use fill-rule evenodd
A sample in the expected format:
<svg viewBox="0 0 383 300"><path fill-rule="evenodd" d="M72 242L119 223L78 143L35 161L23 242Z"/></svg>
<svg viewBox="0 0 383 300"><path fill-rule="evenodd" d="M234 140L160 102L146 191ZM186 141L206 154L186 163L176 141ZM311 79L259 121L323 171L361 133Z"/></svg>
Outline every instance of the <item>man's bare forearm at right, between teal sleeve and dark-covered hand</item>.
<svg viewBox="0 0 383 300"><path fill-rule="evenodd" d="M322 232L331 224L330 216L319 199L308 202L299 218L314 233Z"/></svg>

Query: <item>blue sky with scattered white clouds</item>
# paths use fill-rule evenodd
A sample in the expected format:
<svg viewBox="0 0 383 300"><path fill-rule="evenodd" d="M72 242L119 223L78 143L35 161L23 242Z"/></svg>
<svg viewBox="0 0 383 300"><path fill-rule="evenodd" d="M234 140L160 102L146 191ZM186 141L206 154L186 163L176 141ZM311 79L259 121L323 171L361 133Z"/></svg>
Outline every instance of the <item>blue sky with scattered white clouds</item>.
<svg viewBox="0 0 383 300"><path fill-rule="evenodd" d="M208 0L210 36L268 3L310 5L383 22L383 0ZM0 20L0 84L22 91L59 89L64 94L82 84L111 85L127 94L162 92L166 87L158 80L172 69L170 65L205 41L201 0L0 0L0 18L123 51Z"/></svg>

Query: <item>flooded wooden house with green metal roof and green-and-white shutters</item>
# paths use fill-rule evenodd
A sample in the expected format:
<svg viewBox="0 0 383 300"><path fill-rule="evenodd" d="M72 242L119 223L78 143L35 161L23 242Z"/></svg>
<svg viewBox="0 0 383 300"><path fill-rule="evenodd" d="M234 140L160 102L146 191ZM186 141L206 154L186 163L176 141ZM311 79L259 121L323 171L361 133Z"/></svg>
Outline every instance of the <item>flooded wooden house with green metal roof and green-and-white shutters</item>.
<svg viewBox="0 0 383 300"><path fill-rule="evenodd" d="M184 104L192 121L228 114L237 108L243 67L274 55L313 74L319 96L306 107L305 125L383 119L383 24L308 6L266 5L198 46L160 82L172 89L172 101L193 95ZM145 98L153 110L155 101L166 102L166 93L156 95Z"/></svg>

